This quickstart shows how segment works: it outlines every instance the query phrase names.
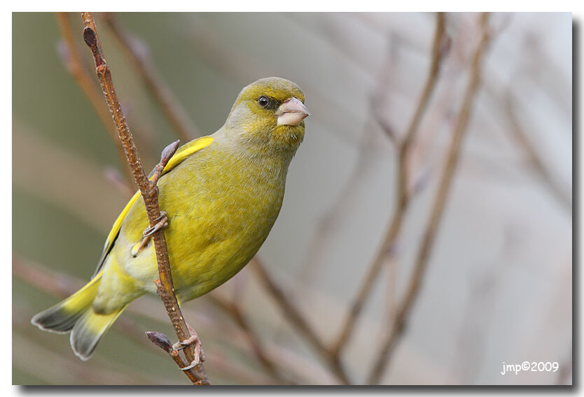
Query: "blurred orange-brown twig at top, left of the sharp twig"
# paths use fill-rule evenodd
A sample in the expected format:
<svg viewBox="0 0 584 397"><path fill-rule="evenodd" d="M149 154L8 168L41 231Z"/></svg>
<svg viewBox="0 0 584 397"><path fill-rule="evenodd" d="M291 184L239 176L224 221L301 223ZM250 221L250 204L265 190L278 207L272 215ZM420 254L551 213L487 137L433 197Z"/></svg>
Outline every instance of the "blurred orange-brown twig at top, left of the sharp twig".
<svg viewBox="0 0 584 397"><path fill-rule="evenodd" d="M87 96L88 101L91 103L95 113L99 116L99 119L102 120L113 145L116 147L118 161L120 162L120 167L123 169L124 178L126 179L127 184L132 185L134 178L132 177L130 167L127 165L124 149L118 140L118 131L116 130L116 126L111 123L111 116L109 115L106 106L104 106L101 94L99 94L99 89L95 86L95 82L92 80L88 71L83 67L81 54L76 45L69 15L67 13L56 13L56 15L66 52L64 62L66 62L67 69L69 70L69 73L73 75L85 96Z"/></svg>

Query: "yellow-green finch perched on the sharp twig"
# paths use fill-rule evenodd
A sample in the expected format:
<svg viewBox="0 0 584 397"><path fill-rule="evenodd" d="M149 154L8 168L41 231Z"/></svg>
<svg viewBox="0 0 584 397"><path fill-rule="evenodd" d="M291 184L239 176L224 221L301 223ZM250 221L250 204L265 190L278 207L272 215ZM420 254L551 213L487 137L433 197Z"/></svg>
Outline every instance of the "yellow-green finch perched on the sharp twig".
<svg viewBox="0 0 584 397"><path fill-rule="evenodd" d="M165 238L179 305L220 286L258 252L284 198L288 165L310 115L305 95L284 78L262 78L239 92L223 127L179 147L158 180ZM70 332L90 359L134 299L155 294L155 250L144 200L136 192L106 238L90 282L32 317L45 331Z"/></svg>

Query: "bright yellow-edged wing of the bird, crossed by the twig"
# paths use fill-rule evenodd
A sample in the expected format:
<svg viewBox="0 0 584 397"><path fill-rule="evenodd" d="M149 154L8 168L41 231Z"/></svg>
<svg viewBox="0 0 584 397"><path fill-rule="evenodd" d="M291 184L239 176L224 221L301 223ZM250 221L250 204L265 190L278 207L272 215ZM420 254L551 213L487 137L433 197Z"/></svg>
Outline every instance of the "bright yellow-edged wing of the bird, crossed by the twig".
<svg viewBox="0 0 584 397"><path fill-rule="evenodd" d="M189 143L187 143L186 145L183 145L182 147L179 147L179 150L176 150L176 153L174 153L174 155L171 157L171 159L168 161L167 165L165 166L164 170L162 170L162 175L165 175L165 173L169 173L170 171L172 171L172 169L174 167L181 164L181 162L184 159L186 159L187 157L189 157L191 154L198 152L203 147L207 147L208 145L210 145L211 142L213 142L213 140L214 140L214 138L211 138L211 136L203 136L201 138L190 141ZM154 171L152 171L150 173L148 178L152 177L153 172ZM162 175L160 175L160 176L162 176ZM106 257L109 254L109 252L111 251L111 248L113 247L113 243L116 241L116 238L118 238L118 234L120 233L120 229L122 228L122 224L124 222L124 219L125 219L127 213L130 212L130 208L132 208L132 205L134 205L134 203L136 203L136 201L140 197L141 197L140 191L136 192L134 194L134 196L130 199L130 201L128 201L125 208L122 210L122 212L118 216L118 219L116 219L116 222L113 222L113 226L111 227L111 231L109 232L109 234L106 238L106 243L104 245L104 252L102 252L102 257L99 258L99 263L97 264L97 269L95 270L95 273L93 273L92 278L95 277L95 275L97 275L97 273L99 273L100 270L102 270L104 263L106 261Z"/></svg>

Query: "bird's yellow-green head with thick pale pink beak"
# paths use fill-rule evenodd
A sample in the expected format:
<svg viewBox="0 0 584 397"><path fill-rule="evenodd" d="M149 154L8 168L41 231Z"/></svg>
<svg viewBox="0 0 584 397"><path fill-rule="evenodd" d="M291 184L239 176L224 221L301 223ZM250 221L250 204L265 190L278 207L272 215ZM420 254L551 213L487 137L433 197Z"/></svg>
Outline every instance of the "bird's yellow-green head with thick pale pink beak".
<svg viewBox="0 0 584 397"><path fill-rule="evenodd" d="M304 92L283 78L263 78L244 87L225 122L238 140L296 152L304 138Z"/></svg>

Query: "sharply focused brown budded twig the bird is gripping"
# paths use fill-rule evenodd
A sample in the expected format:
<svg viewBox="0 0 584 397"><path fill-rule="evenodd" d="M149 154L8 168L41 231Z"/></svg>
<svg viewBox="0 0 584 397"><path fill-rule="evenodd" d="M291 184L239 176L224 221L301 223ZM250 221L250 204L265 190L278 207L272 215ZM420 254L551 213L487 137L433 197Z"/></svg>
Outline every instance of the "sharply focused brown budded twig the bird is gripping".
<svg viewBox="0 0 584 397"><path fill-rule="evenodd" d="M85 29L83 29L83 39L88 47L91 49L95 66L97 72L97 78L102 85L102 91L106 98L110 113L113 117L114 124L116 124L116 129L118 130L118 135L122 141L128 164L132 168L132 173L134 174L134 179L140 189L142 198L144 198L144 204L146 206L146 213L148 214L149 224L154 226L160 220L160 208L158 206L158 186L156 181L158 180L156 175L162 173L162 169L165 164L169 161L174 151L178 147L178 141L173 145L169 145L162 152L162 157L160 159L160 164L156 166L155 176L153 181L148 180L146 173L144 172L144 167L141 164L141 160L138 154L136 145L134 145L134 138L132 138L132 133L127 125L125 117L122 112L122 108L116 96L116 90L113 87L113 82L111 80L111 72L106 64L104 55L102 52L101 45L99 44L99 38L97 36L97 31L95 29L95 22L93 21L92 13L82 13L83 22L85 24ZM191 337L191 333L188 329L186 322L183 319L181 309L179 308L179 303L174 295L174 287L172 284L172 275L170 270L170 264L168 259L168 251L166 245L165 234L162 229L155 231L153 233L154 247L156 251L156 261L158 263L158 274L160 279L157 280L157 291L162 299L167 310L167 315L172 322L172 326L179 340L188 340ZM193 344L189 344L184 349L186 359L188 362L193 363L198 361L197 365L190 369L184 371L193 384L209 384L207 379L207 374L205 373L204 366L202 365L201 359L197 356L197 351Z"/></svg>

